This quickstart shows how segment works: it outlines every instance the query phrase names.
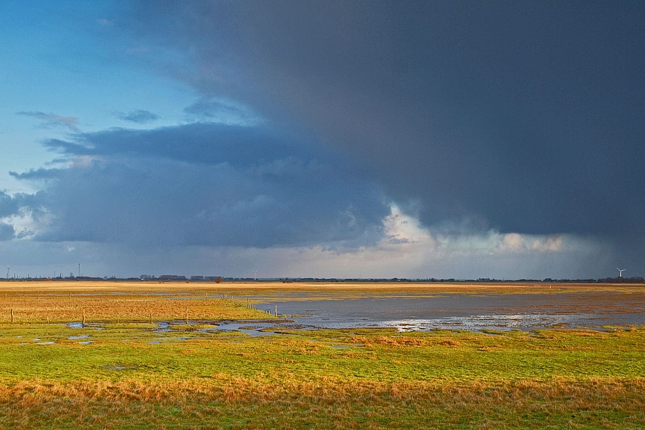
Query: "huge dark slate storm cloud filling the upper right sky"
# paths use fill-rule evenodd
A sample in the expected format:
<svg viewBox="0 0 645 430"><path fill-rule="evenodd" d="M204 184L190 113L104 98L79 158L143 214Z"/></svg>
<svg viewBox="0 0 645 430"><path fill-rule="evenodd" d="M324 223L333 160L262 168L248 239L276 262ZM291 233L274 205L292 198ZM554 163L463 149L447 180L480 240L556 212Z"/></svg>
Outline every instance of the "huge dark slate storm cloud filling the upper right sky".
<svg viewBox="0 0 645 430"><path fill-rule="evenodd" d="M311 130L426 225L645 239L642 2L133 4L124 28L196 65L173 76Z"/></svg>

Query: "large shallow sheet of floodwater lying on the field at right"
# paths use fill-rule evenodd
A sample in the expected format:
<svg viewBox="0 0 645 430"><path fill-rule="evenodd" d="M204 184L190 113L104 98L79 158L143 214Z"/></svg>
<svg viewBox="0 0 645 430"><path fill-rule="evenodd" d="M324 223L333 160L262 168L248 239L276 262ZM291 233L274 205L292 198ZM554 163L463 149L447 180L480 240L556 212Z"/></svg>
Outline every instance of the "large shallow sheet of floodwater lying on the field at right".
<svg viewBox="0 0 645 430"><path fill-rule="evenodd" d="M289 316L307 328L396 327L431 329L602 328L645 325L645 293L386 295L314 298L309 293L256 297L260 309Z"/></svg>

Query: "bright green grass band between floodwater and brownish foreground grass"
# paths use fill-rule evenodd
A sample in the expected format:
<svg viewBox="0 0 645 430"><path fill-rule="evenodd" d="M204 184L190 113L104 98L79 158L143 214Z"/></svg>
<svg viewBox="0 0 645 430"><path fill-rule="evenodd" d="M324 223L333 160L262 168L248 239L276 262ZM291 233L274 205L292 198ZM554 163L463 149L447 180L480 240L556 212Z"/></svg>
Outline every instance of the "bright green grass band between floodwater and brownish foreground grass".
<svg viewBox="0 0 645 430"><path fill-rule="evenodd" d="M645 376L641 329L494 335L319 330L254 337L200 331L209 326L174 325L171 332L162 333L145 323L103 327L5 326L0 381L15 383L26 375L57 381L172 381L221 372L235 377L273 375L277 381L293 375L311 381L325 375L339 381L387 383ZM70 339L80 334L89 337ZM81 345L83 341L92 343ZM54 343L42 344L49 342ZM133 370L109 370L115 363Z"/></svg>

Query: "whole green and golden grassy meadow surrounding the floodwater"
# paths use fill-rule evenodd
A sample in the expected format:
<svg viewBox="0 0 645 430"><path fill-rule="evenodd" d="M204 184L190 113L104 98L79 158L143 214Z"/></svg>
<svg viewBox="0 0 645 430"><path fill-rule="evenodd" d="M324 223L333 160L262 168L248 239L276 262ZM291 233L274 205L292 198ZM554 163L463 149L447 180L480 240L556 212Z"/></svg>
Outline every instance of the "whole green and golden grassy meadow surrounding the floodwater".
<svg viewBox="0 0 645 430"><path fill-rule="evenodd" d="M443 288L549 285L0 282L0 429L645 428L642 327L216 330L218 320L273 318L250 294ZM596 288L642 293L549 291ZM171 324L160 332L162 321Z"/></svg>

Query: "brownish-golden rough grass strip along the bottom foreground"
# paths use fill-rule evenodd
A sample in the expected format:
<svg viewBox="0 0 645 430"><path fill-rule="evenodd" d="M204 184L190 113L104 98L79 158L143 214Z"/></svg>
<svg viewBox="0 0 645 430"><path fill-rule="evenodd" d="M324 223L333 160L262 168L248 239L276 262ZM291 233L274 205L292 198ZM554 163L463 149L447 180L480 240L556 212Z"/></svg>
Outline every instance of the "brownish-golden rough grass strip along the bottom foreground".
<svg viewBox="0 0 645 430"><path fill-rule="evenodd" d="M212 375L0 386L0 428L637 428L645 381L298 383Z"/></svg>

